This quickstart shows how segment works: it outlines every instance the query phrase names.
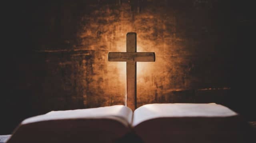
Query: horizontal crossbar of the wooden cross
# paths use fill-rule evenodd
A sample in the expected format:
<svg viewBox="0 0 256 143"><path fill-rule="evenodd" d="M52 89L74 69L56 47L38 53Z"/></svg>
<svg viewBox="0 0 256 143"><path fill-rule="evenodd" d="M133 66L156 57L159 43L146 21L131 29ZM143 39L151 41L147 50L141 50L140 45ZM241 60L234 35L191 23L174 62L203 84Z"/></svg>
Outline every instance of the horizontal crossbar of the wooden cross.
<svg viewBox="0 0 256 143"><path fill-rule="evenodd" d="M154 52L109 52L109 62L155 62Z"/></svg>

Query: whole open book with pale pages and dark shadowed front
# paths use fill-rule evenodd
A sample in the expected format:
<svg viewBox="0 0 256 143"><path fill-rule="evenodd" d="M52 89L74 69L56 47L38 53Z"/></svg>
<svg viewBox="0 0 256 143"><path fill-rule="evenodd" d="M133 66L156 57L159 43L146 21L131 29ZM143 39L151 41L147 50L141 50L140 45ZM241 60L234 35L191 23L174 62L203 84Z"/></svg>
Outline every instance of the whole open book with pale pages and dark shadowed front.
<svg viewBox="0 0 256 143"><path fill-rule="evenodd" d="M246 125L240 116L215 103L124 105L51 111L25 119L8 143L243 142ZM133 141L133 142L136 142Z"/></svg>

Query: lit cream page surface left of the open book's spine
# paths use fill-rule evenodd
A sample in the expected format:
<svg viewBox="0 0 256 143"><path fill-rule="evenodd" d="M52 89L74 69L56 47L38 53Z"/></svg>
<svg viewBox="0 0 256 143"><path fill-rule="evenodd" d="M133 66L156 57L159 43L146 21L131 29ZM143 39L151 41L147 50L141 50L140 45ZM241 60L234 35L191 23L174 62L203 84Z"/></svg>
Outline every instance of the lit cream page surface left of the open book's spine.
<svg viewBox="0 0 256 143"><path fill-rule="evenodd" d="M50 111L44 115L25 119L21 124L63 119L114 119L128 127L132 122L132 110L124 105L114 105L90 109Z"/></svg>

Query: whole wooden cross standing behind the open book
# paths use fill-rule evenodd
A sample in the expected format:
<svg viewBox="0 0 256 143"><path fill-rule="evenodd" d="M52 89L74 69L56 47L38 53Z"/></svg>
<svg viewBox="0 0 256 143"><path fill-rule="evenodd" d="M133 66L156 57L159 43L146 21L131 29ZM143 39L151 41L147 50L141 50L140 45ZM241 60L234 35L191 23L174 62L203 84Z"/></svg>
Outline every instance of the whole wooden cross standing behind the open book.
<svg viewBox="0 0 256 143"><path fill-rule="evenodd" d="M127 106L136 109L136 62L155 62L154 52L136 52L136 33L126 34L126 52L109 52L109 62L126 62Z"/></svg>

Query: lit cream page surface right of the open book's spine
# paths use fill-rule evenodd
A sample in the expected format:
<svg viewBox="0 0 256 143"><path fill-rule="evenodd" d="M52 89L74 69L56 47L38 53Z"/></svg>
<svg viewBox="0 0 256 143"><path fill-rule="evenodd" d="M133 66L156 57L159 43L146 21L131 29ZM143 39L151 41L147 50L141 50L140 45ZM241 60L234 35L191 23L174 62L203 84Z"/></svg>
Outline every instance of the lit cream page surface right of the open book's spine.
<svg viewBox="0 0 256 143"><path fill-rule="evenodd" d="M147 104L134 111L132 126L160 117L228 117L237 115L229 108L215 103Z"/></svg>

